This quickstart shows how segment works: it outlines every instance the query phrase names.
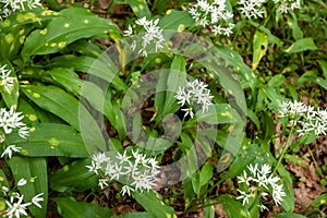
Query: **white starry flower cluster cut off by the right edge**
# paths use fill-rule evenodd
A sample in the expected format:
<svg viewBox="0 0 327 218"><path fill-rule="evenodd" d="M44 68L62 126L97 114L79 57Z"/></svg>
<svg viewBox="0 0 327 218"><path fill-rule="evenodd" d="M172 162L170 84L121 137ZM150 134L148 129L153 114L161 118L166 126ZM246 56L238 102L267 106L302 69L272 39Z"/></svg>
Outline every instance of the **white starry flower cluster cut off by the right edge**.
<svg viewBox="0 0 327 218"><path fill-rule="evenodd" d="M327 134L327 109L315 109L299 101L284 101L280 106L279 117L287 117L296 126L300 135L314 133Z"/></svg>

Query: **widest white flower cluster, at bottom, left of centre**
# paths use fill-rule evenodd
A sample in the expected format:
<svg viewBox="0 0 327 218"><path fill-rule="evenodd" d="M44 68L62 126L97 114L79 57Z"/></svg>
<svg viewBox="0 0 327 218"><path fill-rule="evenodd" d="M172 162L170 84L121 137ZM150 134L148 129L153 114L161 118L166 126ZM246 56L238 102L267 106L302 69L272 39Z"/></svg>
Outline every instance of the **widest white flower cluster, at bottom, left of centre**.
<svg viewBox="0 0 327 218"><path fill-rule="evenodd" d="M99 186L108 186L108 182L116 180L124 183L122 195L131 192L150 190L156 184L159 166L155 158L148 158L132 150L132 155L118 153L114 157L107 157L105 153L93 155L89 171L99 174Z"/></svg>

